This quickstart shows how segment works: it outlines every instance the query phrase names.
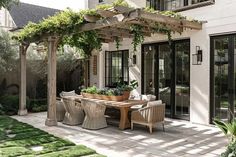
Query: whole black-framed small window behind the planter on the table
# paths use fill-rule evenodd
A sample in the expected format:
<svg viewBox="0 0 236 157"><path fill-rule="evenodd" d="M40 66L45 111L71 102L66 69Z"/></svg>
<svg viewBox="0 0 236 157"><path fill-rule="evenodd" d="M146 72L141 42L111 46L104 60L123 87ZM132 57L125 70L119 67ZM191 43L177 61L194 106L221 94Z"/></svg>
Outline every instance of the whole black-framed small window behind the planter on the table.
<svg viewBox="0 0 236 157"><path fill-rule="evenodd" d="M105 54L105 86L116 87L118 82L129 82L129 51L107 51Z"/></svg>

